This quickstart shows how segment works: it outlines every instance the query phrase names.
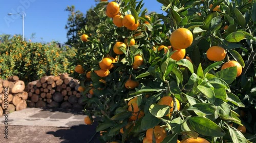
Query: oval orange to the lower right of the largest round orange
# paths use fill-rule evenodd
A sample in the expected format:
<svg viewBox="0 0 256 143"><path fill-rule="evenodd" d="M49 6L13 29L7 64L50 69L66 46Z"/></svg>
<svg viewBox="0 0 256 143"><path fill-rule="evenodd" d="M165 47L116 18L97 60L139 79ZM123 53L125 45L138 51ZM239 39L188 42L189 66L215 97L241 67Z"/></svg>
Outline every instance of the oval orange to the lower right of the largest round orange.
<svg viewBox="0 0 256 143"><path fill-rule="evenodd" d="M226 57L226 51L220 46L211 46L206 52L210 61L222 61Z"/></svg>

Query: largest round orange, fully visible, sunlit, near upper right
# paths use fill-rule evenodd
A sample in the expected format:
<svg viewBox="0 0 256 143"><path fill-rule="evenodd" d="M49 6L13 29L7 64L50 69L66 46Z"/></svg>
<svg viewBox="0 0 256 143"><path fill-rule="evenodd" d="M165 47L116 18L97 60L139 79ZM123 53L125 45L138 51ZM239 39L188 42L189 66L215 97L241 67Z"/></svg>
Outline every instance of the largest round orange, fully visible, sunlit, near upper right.
<svg viewBox="0 0 256 143"><path fill-rule="evenodd" d="M176 49L185 49L193 42L193 34L187 28L178 28L170 35L170 43Z"/></svg>

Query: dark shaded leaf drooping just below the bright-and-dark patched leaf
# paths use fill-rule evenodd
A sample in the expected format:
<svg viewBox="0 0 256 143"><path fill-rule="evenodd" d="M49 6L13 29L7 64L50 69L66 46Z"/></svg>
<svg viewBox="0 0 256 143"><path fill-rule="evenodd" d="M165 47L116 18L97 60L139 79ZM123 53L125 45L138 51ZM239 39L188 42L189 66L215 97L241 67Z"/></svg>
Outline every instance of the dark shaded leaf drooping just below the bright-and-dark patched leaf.
<svg viewBox="0 0 256 143"><path fill-rule="evenodd" d="M134 128L133 132L142 132L147 129L157 126L161 122L160 119L153 116L151 113L147 113L141 120L141 125L138 128Z"/></svg>

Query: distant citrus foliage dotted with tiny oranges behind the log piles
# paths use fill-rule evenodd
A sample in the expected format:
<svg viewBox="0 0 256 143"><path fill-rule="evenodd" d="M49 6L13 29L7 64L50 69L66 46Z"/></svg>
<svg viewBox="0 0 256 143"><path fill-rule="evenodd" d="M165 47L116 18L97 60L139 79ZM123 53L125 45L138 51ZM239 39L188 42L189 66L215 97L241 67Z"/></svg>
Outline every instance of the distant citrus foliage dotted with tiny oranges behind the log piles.
<svg viewBox="0 0 256 143"><path fill-rule="evenodd" d="M14 35L0 43L0 77L6 79L17 75L27 83L44 75L71 73L70 61L74 55L73 48L59 48L57 42L34 43L22 41L22 36Z"/></svg>

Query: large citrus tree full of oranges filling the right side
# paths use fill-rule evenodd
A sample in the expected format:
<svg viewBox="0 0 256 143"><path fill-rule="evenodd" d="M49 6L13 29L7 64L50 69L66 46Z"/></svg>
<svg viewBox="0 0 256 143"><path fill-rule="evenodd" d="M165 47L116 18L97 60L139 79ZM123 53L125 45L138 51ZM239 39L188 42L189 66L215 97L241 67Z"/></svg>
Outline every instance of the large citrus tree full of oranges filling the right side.
<svg viewBox="0 0 256 143"><path fill-rule="evenodd" d="M80 32L73 76L102 142L254 142L255 2L158 2L100 2Z"/></svg>

